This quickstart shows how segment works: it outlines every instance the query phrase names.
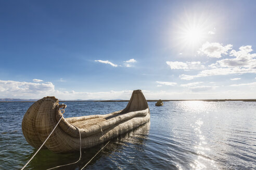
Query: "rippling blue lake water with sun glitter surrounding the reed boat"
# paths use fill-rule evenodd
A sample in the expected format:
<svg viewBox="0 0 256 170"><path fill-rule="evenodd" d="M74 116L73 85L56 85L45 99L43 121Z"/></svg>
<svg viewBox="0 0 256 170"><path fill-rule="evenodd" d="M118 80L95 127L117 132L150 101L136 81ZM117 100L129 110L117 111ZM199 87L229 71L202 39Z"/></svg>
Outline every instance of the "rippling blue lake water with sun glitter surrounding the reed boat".
<svg viewBox="0 0 256 170"><path fill-rule="evenodd" d="M65 102L64 117L107 114L127 102ZM110 140L86 169L256 169L256 102L148 102L150 123ZM36 149L21 131L32 103L0 103L0 169L20 169ZM104 145L82 151L80 169ZM39 151L26 169L75 162L79 152Z"/></svg>

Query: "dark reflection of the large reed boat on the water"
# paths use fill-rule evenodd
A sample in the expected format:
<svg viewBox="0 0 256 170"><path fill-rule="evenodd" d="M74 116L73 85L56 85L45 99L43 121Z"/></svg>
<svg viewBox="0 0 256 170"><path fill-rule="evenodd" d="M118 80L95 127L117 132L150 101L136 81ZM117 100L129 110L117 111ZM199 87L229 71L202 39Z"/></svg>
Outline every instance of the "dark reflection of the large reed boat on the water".
<svg viewBox="0 0 256 170"><path fill-rule="evenodd" d="M136 129L111 139L110 143L99 152L99 154L86 166L85 169L119 169L124 166L133 165L136 162L134 154L143 154L143 146L147 143L150 122L137 127ZM81 160L72 165L67 165L55 169L81 169L94 155L105 145L101 144L92 148L83 149ZM34 152L24 155L28 161ZM121 155L125 155L126 158ZM80 152L74 153L53 153L48 149L40 150L34 159L25 169L47 169L59 165L69 164L79 159ZM126 161L124 161L125 159ZM25 162L24 162L25 163ZM131 166L131 165L130 165ZM137 168L137 167L134 167Z"/></svg>

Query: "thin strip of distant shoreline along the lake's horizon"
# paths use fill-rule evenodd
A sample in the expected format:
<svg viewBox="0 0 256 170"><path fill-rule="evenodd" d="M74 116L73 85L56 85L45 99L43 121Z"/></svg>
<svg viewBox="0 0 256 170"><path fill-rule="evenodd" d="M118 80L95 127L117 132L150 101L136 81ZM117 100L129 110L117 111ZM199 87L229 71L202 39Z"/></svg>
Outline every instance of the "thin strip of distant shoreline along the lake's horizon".
<svg viewBox="0 0 256 170"><path fill-rule="evenodd" d="M158 100L147 100L147 102L157 102ZM203 101L203 102L226 102L226 101L241 101L241 102L256 102L256 99L206 99L206 100L162 100L163 102L172 101ZM0 103L6 102L36 102L36 101L1 101ZM59 102L129 102L129 100L106 100L106 101L59 101Z"/></svg>

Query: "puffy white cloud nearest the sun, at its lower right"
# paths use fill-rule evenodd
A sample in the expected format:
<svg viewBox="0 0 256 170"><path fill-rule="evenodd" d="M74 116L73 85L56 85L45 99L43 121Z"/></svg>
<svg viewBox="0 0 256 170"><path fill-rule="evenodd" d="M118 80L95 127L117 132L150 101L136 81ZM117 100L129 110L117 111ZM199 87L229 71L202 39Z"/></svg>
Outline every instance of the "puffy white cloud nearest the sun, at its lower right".
<svg viewBox="0 0 256 170"><path fill-rule="evenodd" d="M211 58L221 58L222 54L228 54L228 50L231 50L233 45L228 44L226 46L223 46L220 43L209 43L206 42L202 45L202 47L199 49L199 54L206 54L207 56Z"/></svg>

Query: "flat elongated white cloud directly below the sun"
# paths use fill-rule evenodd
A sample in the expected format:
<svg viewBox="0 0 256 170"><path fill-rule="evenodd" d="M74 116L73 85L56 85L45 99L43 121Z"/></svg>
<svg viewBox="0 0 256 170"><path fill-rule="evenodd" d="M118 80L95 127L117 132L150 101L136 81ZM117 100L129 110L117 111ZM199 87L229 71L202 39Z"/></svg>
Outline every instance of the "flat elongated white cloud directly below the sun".
<svg viewBox="0 0 256 170"><path fill-rule="evenodd" d="M204 65L201 65L200 61L197 62L178 62L178 61L167 61L166 62L171 69L184 69L184 70L190 70L190 69L202 69L204 68Z"/></svg>

